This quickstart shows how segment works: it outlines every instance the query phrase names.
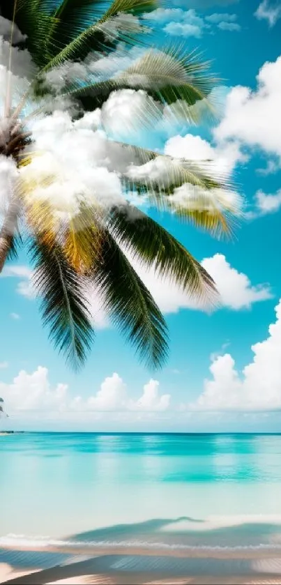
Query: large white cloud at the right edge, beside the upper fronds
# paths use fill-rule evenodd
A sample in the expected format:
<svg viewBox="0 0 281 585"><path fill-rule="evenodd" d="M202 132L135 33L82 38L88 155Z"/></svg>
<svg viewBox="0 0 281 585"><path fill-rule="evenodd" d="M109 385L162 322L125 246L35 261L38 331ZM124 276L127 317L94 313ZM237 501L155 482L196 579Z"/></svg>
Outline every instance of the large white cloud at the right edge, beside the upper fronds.
<svg viewBox="0 0 281 585"><path fill-rule="evenodd" d="M226 100L225 117L214 131L218 142L236 140L267 155L281 158L281 56L264 63L256 91L236 86Z"/></svg>

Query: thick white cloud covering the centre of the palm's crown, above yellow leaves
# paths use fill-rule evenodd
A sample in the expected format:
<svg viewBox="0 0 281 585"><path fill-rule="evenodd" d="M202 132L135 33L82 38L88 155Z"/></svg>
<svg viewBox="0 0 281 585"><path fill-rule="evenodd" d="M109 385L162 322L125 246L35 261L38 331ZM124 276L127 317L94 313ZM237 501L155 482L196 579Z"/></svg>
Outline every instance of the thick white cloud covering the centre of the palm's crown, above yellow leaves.
<svg viewBox="0 0 281 585"><path fill-rule="evenodd" d="M124 200L119 176L106 160L108 141L97 124L97 112L86 116L82 126L60 111L33 123L34 148L40 155L21 172L22 181L34 185L31 199L47 200L60 216L75 215L81 198L103 206Z"/></svg>

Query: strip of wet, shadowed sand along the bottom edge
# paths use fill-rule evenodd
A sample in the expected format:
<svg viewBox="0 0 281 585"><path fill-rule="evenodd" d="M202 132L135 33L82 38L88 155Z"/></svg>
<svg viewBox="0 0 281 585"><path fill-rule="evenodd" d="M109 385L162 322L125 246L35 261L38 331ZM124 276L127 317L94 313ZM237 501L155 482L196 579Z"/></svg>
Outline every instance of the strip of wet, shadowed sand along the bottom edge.
<svg viewBox="0 0 281 585"><path fill-rule="evenodd" d="M276 551L169 551L104 548L1 549L0 583L10 585L277 585Z"/></svg>

